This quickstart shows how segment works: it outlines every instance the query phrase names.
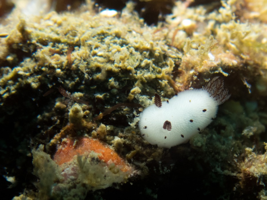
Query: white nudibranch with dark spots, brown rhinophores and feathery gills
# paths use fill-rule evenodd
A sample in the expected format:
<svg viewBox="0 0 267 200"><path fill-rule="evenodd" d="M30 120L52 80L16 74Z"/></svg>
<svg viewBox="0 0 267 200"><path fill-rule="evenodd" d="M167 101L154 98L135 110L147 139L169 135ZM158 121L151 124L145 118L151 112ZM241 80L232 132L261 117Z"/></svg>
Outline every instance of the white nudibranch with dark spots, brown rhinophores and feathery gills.
<svg viewBox="0 0 267 200"><path fill-rule="evenodd" d="M220 77L212 78L203 89L180 92L165 102L155 93L154 105L140 113L141 134L158 147L171 148L186 143L211 123L218 105L229 97Z"/></svg>

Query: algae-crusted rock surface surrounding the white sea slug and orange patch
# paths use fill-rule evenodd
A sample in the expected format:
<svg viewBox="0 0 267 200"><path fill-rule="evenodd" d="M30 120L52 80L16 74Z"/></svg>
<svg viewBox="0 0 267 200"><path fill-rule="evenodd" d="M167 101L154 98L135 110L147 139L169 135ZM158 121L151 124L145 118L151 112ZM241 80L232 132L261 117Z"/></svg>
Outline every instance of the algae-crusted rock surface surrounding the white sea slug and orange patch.
<svg viewBox="0 0 267 200"><path fill-rule="evenodd" d="M141 16L153 5L163 15L149 23L140 2ZM16 7L2 19L1 171L14 199L266 198L266 2L140 2L112 11L88 0L36 17ZM143 140L138 116L155 93L166 101L215 76L231 97L207 128L171 149ZM80 138L111 153L84 154ZM72 139L75 155L56 163Z"/></svg>

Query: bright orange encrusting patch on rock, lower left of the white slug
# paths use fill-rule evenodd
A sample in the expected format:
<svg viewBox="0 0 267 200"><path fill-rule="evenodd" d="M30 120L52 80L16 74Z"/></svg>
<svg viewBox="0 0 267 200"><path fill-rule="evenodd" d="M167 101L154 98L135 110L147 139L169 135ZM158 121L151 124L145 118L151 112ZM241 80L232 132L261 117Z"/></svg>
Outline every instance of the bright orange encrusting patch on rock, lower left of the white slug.
<svg viewBox="0 0 267 200"><path fill-rule="evenodd" d="M58 165L62 165L63 163L72 161L75 155L83 155L91 151L98 153L98 158L107 165L114 163L116 166L121 166L121 171L123 172L131 169L130 165L113 149L110 149L108 145L90 137L81 137L78 139L65 138L54 155L54 161Z"/></svg>

